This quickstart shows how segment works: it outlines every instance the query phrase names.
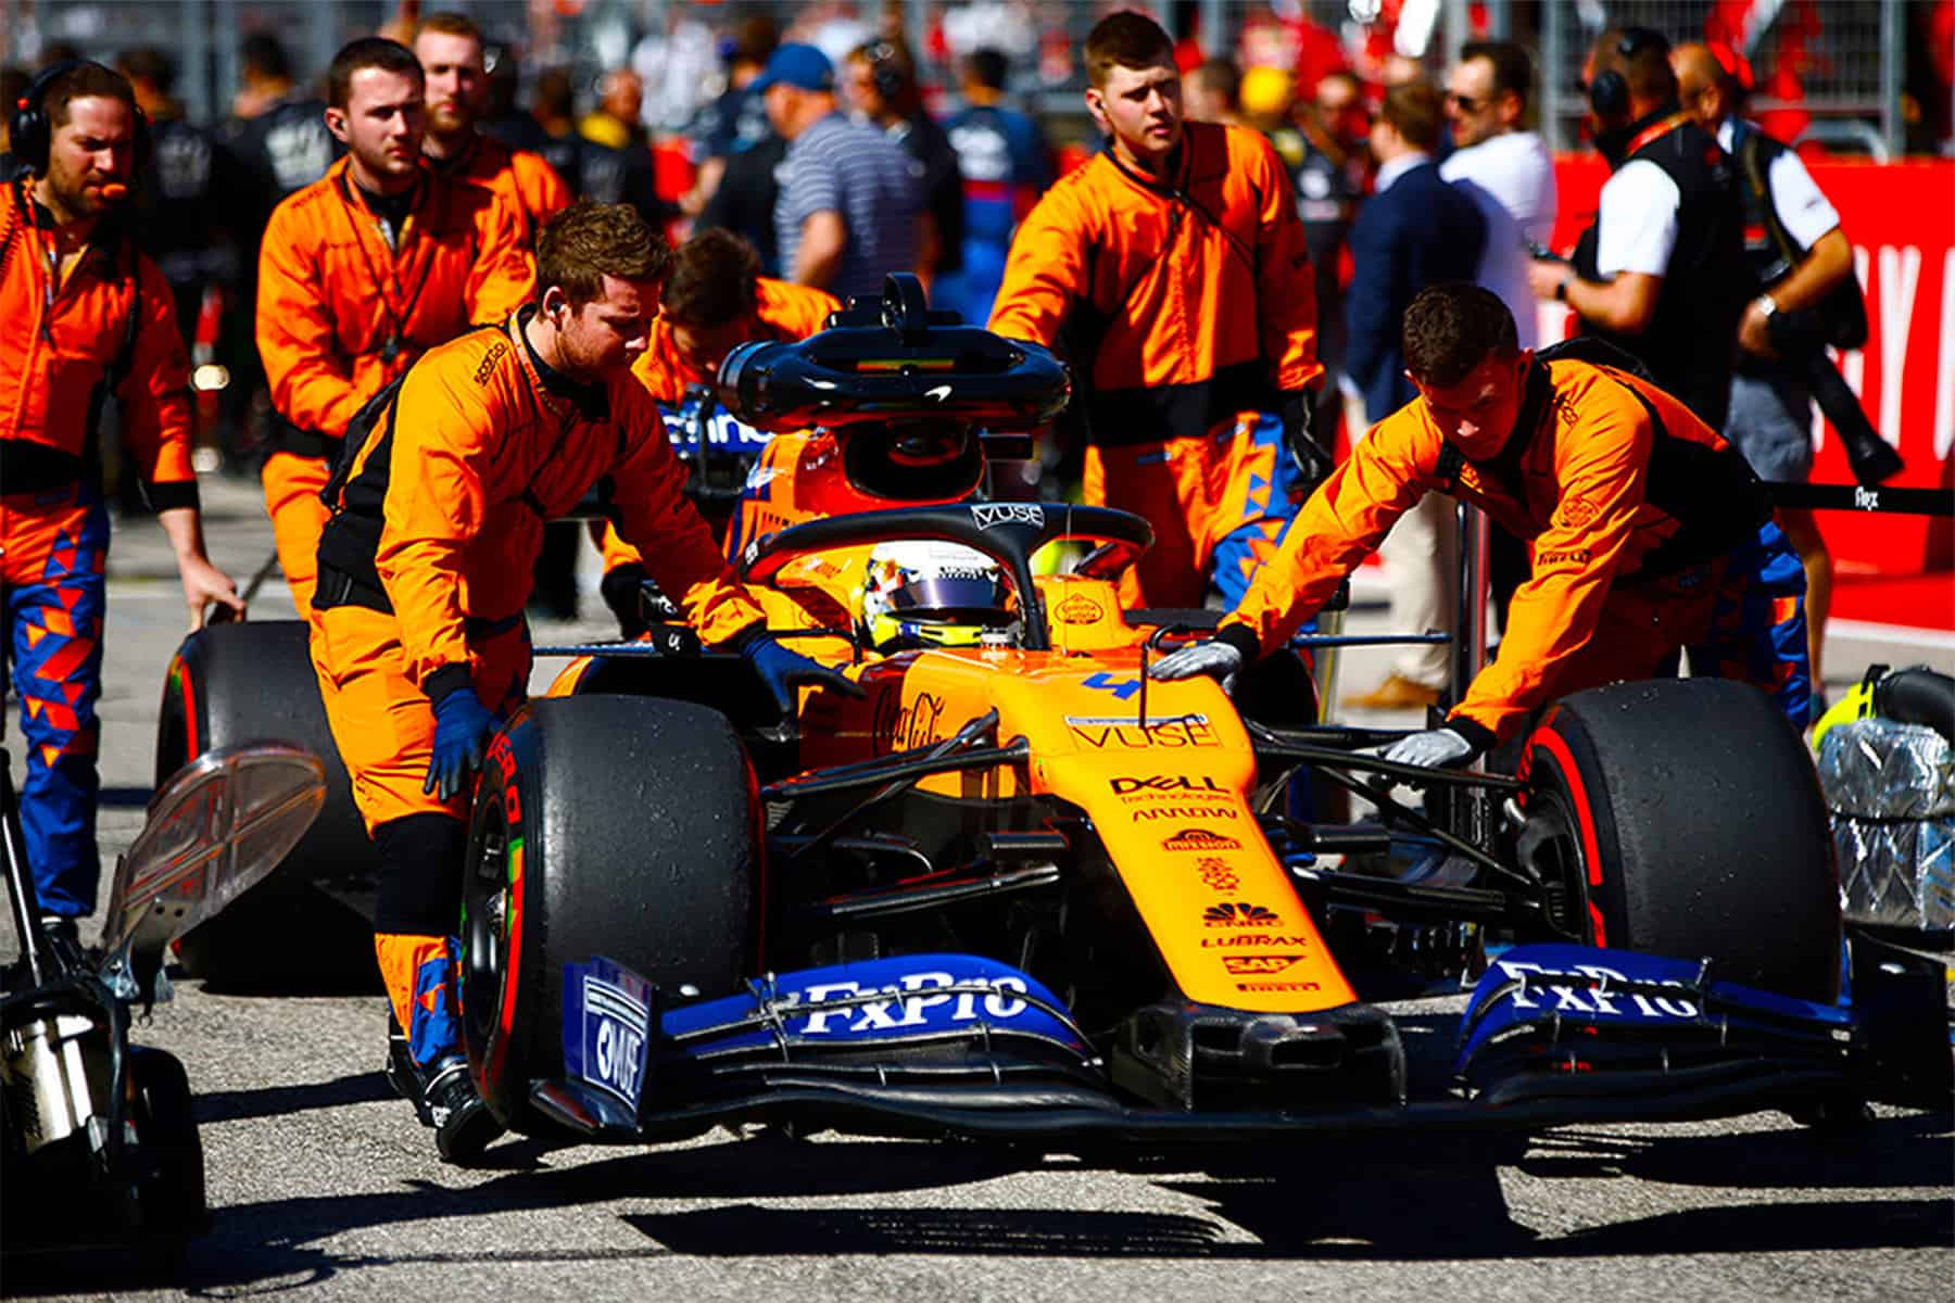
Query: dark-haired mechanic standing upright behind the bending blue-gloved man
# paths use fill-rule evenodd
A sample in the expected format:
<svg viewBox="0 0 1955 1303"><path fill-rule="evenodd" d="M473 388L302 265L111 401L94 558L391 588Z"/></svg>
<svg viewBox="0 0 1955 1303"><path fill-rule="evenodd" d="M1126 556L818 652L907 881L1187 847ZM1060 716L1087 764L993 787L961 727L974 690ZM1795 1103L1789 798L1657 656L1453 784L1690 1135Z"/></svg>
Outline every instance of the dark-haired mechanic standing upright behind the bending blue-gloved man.
<svg viewBox="0 0 1955 1303"><path fill-rule="evenodd" d="M393 41L352 41L326 72L346 156L272 213L258 250L258 356L272 387L264 506L303 615L346 424L422 354L536 293L520 215L420 166L422 74Z"/></svg>

